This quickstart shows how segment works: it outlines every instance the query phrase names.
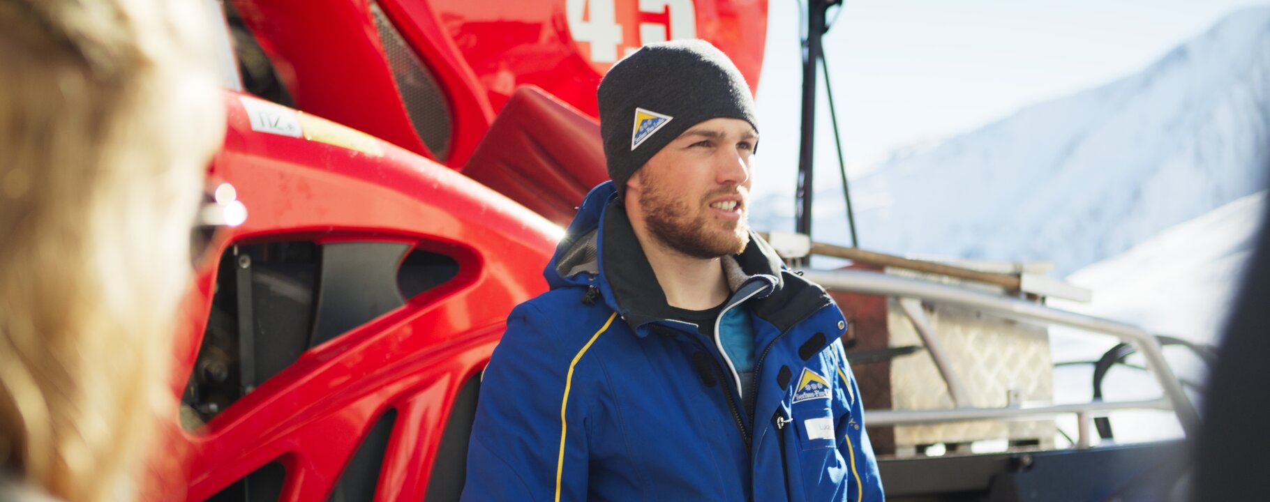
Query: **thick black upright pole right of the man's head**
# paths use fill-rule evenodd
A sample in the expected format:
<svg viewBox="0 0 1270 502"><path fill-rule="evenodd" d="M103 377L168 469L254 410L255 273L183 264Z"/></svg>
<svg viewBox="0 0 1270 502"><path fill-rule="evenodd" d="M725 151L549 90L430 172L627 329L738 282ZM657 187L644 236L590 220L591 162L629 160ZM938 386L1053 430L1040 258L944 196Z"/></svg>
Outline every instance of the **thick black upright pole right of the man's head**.
<svg viewBox="0 0 1270 502"><path fill-rule="evenodd" d="M803 141L798 161L798 224L799 233L812 235L812 152L815 146L815 71L820 60L820 37L824 34L826 0L806 0L806 41L803 47Z"/></svg>

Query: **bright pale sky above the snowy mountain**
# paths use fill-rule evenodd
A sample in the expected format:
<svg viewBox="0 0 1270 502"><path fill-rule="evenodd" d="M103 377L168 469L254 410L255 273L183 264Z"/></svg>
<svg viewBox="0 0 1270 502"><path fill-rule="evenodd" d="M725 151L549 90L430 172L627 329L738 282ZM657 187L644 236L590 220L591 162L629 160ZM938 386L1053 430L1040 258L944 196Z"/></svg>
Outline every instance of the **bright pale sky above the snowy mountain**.
<svg viewBox="0 0 1270 502"><path fill-rule="evenodd" d="M1021 106L1130 75L1248 0L847 0L824 37L847 170L937 142ZM792 190L801 63L799 0L768 0L758 81L754 195ZM828 108L818 100L817 185L837 185Z"/></svg>

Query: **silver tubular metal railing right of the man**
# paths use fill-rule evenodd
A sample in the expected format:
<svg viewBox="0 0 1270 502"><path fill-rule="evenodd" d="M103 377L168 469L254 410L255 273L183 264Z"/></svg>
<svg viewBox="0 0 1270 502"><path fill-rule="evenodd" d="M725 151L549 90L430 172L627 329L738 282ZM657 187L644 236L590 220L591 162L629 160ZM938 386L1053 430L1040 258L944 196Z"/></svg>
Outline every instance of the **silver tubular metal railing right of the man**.
<svg viewBox="0 0 1270 502"><path fill-rule="evenodd" d="M864 270L803 270L804 278L815 281L829 290L847 293L878 294L894 297L900 309L908 316L926 344L927 351L944 376L952 397L952 409L874 409L866 411L871 426L939 423L968 420L1020 420L1038 416L1076 413L1080 428L1077 446L1090 445L1088 422L1095 415L1105 415L1115 409L1172 409L1186 435L1198 430L1199 415L1195 406L1182 390L1181 382L1173 374L1172 366L1165 360L1161 344L1154 336L1137 326L1130 326L1100 317L1060 311L1041 304L980 293L955 285L939 284L922 279L909 279ZM1147 368L1165 389L1165 397L1152 401L1132 402L1090 402L1076 404L1054 404L1043 407L1008 406L1005 408L974 408L968 404L966 392L947 363L935 331L930 327L921 302L944 303L992 313L1008 319L1040 326L1067 326L1095 333L1115 336L1134 345L1146 357Z"/></svg>

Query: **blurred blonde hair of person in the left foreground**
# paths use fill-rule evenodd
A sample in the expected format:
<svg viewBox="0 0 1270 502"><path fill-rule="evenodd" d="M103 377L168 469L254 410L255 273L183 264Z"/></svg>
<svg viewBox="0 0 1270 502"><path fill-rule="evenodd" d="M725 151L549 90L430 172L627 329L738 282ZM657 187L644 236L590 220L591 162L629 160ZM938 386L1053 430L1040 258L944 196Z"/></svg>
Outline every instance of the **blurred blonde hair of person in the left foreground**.
<svg viewBox="0 0 1270 502"><path fill-rule="evenodd" d="M0 0L0 464L67 501L147 491L175 417L174 316L225 131L207 6Z"/></svg>

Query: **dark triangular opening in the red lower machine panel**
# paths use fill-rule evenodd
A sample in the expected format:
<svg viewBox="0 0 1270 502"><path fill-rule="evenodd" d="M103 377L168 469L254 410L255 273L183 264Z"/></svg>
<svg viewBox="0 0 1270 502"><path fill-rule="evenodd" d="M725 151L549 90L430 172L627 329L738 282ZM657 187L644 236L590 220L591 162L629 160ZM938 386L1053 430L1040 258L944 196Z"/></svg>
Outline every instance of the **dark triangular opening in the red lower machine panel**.
<svg viewBox="0 0 1270 502"><path fill-rule="evenodd" d="M458 274L400 242L279 241L231 247L183 404L201 427L300 356Z"/></svg>

